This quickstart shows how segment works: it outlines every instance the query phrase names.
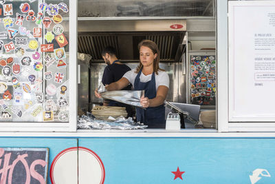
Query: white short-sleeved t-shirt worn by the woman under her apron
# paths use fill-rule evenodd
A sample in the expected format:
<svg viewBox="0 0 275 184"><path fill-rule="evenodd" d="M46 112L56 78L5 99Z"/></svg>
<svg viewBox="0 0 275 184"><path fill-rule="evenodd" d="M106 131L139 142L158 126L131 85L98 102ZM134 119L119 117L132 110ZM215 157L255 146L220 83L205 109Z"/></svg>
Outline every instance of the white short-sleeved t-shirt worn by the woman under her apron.
<svg viewBox="0 0 275 184"><path fill-rule="evenodd" d="M130 70L124 74L124 78L128 79L128 81L135 87L135 77L137 76L137 73L135 73L136 69ZM140 82L146 83L148 81L151 81L152 74L144 75L143 73L140 74ZM155 74L155 89L157 90L159 88L159 85L165 85L167 88L169 88L169 76L164 71L158 71L158 74Z"/></svg>

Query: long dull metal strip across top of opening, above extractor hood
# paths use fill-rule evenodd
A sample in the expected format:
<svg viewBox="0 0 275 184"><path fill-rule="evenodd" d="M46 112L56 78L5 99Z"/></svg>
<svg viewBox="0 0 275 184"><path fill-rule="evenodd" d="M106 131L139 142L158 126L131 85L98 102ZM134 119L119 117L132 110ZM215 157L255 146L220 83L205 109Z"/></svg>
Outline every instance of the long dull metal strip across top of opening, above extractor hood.
<svg viewBox="0 0 275 184"><path fill-rule="evenodd" d="M215 0L78 0L78 17L214 16Z"/></svg>

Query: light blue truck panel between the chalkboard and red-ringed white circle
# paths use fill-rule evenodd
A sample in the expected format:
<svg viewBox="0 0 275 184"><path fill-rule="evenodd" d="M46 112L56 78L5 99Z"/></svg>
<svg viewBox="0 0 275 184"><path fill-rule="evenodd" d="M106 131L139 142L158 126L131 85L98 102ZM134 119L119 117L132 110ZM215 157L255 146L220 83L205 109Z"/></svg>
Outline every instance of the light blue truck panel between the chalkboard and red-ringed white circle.
<svg viewBox="0 0 275 184"><path fill-rule="evenodd" d="M49 147L47 183L51 183L50 167L54 157L68 147L77 147L77 143L77 139L0 138L0 147Z"/></svg>

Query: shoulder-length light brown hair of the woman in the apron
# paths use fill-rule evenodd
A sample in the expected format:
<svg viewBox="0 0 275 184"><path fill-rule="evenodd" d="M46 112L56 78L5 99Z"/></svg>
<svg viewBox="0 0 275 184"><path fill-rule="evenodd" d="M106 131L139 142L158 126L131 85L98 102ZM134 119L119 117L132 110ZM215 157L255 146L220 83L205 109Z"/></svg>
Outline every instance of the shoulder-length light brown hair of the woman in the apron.
<svg viewBox="0 0 275 184"><path fill-rule="evenodd" d="M157 54L157 57L154 59L154 62L153 62L153 72L155 72L155 74L158 74L158 72L157 72L158 70L165 71L165 70L159 68L159 49L157 48L157 44L155 44L155 42L153 42L151 40L144 39L144 40L140 41L140 43L138 43L138 45L137 45L139 52L140 52L140 48L142 46L150 48L152 50L153 54ZM140 61L140 64L137 66L135 72L136 73L140 72L140 69L142 69L141 61Z"/></svg>

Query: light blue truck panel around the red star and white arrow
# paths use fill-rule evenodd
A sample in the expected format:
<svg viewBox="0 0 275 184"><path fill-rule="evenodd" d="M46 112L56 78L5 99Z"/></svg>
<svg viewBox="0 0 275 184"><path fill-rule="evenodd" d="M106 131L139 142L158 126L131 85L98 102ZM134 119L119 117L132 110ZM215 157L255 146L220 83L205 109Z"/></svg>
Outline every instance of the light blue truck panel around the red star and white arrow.
<svg viewBox="0 0 275 184"><path fill-rule="evenodd" d="M275 183L275 139L79 139L100 156L105 183ZM182 174L183 181L172 172Z"/></svg>

